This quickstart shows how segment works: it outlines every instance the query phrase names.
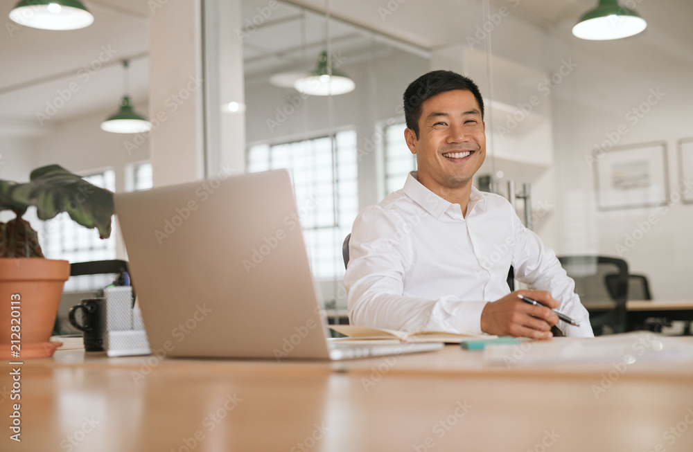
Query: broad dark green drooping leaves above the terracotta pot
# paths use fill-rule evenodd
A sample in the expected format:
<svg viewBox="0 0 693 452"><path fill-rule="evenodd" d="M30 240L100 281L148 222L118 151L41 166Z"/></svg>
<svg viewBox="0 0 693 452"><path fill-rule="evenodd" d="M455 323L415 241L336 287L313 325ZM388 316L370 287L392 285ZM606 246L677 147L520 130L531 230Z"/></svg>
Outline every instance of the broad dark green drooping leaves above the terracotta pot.
<svg viewBox="0 0 693 452"><path fill-rule="evenodd" d="M28 183L0 181L0 209L22 215L36 206L40 219L51 219L61 212L86 228L96 228L102 239L111 235L114 213L113 193L99 188L60 165L33 170Z"/></svg>

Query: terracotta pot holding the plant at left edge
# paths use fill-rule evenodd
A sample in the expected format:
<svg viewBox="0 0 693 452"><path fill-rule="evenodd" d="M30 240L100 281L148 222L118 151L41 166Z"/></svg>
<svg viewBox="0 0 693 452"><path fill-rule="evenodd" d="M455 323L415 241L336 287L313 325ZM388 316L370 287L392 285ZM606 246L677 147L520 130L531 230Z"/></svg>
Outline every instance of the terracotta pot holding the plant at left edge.
<svg viewBox="0 0 693 452"><path fill-rule="evenodd" d="M69 276L67 260L0 259L0 359L21 360L53 354L55 345L49 339L58 315L62 287ZM19 306L18 317L12 316L12 306ZM19 325L12 318L17 318ZM17 336L11 336L11 327L16 330L17 326L20 350L19 356L12 356L12 351L17 351L11 347Z"/></svg>

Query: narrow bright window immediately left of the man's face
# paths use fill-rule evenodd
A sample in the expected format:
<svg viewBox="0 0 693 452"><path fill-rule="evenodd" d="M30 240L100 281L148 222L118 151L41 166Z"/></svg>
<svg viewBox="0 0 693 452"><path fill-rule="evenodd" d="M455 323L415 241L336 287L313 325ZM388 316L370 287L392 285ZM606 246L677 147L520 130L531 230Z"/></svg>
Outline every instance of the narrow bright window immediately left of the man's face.
<svg viewBox="0 0 693 452"><path fill-rule="evenodd" d="M409 151L404 139L405 123L388 125L384 129L385 143L385 193L399 190L404 186L410 171L416 170L416 156Z"/></svg>

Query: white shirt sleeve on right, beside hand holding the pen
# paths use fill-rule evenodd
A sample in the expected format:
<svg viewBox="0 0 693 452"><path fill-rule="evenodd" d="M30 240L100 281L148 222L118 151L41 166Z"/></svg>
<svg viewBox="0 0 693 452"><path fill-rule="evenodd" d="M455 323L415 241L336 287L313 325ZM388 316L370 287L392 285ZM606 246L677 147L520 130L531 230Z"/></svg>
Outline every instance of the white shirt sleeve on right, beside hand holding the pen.
<svg viewBox="0 0 693 452"><path fill-rule="evenodd" d="M559 320L557 326L565 336L594 337L587 309L575 293L575 282L565 273L556 253L544 246L538 235L525 228L512 208L511 211L515 231L512 261L515 277L532 289L551 292L560 302L559 311L580 323L576 327Z"/></svg>

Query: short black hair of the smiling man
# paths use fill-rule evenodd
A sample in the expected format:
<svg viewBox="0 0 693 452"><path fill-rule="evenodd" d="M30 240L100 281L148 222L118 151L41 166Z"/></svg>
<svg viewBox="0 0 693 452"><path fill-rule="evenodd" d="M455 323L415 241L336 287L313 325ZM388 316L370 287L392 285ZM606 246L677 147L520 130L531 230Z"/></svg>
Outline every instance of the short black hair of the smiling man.
<svg viewBox="0 0 693 452"><path fill-rule="evenodd" d="M419 118L421 118L421 105L423 102L446 91L463 89L471 91L479 104L481 118L484 119L484 100L481 97L479 87L464 75L453 71L430 71L421 75L409 84L404 91L404 117L407 127L412 129L419 139Z"/></svg>

